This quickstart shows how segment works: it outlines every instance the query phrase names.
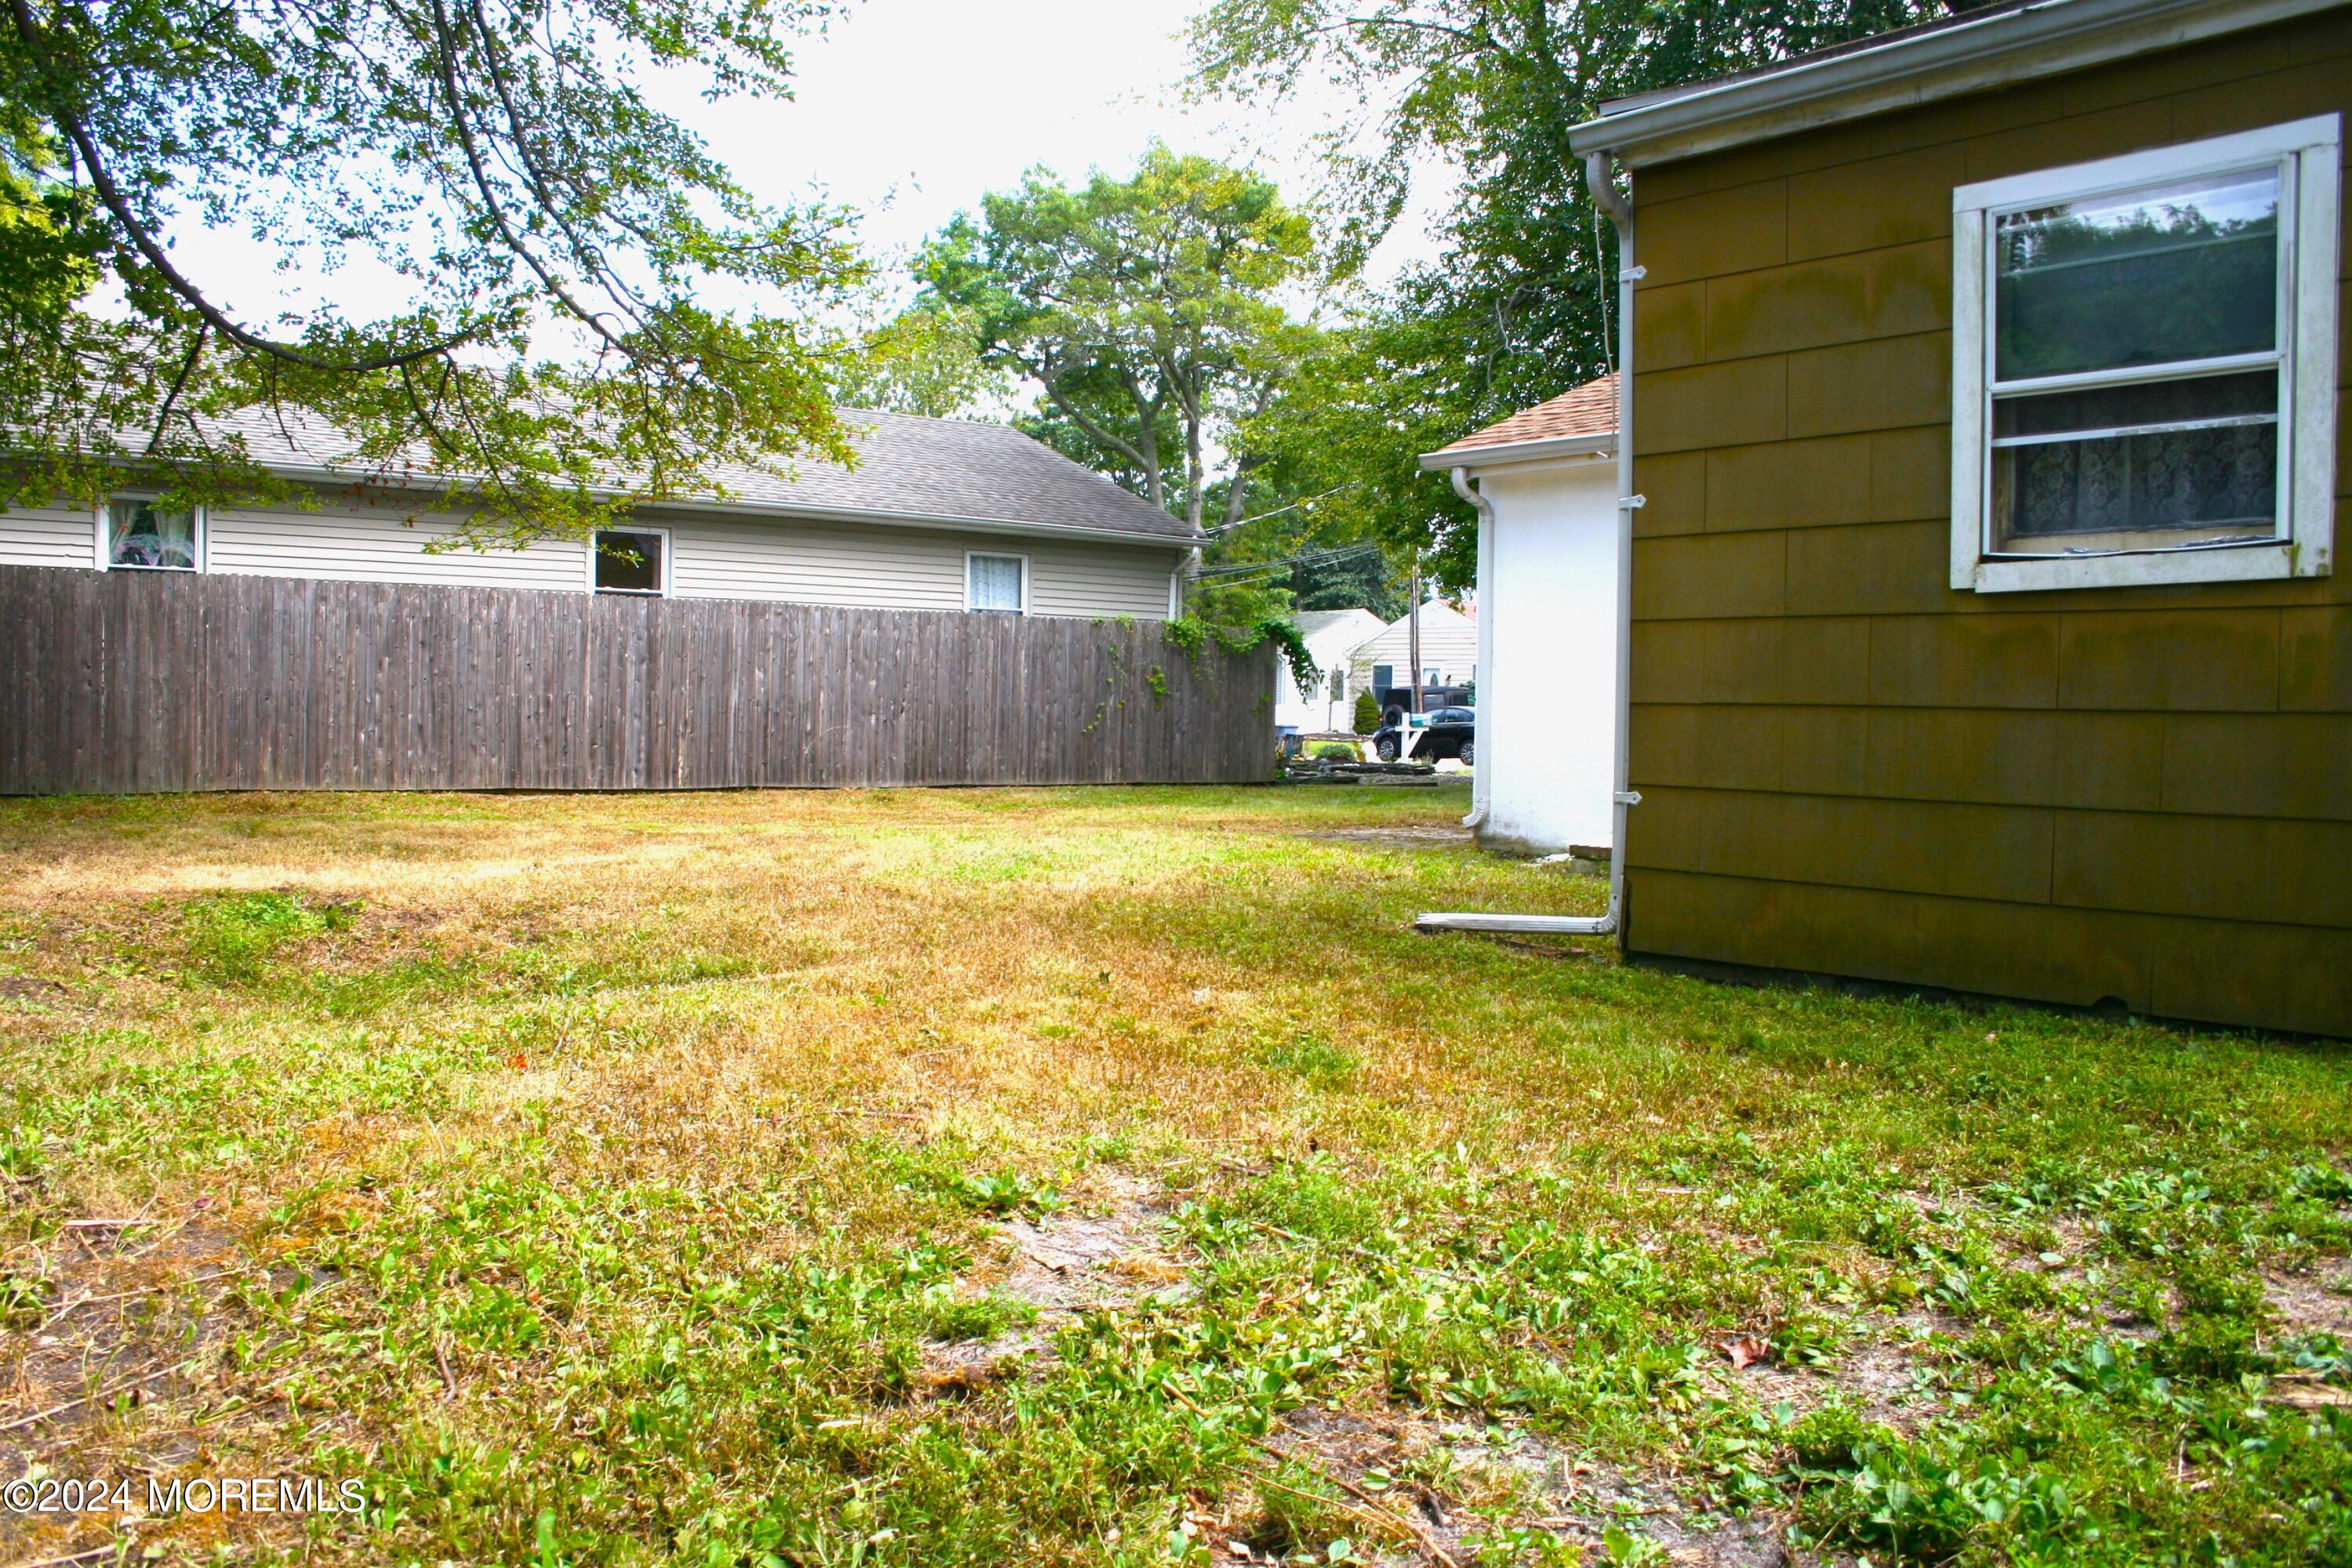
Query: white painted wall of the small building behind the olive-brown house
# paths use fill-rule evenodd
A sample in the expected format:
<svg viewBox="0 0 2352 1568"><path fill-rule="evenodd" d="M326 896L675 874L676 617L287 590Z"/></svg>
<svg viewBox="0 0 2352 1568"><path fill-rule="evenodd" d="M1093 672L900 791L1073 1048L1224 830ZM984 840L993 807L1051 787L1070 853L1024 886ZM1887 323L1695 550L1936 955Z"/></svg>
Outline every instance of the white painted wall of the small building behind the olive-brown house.
<svg viewBox="0 0 2352 1568"><path fill-rule="evenodd" d="M1616 461L1477 475L1494 505L1479 614L1479 842L1519 853L1609 844L1616 788Z"/></svg>

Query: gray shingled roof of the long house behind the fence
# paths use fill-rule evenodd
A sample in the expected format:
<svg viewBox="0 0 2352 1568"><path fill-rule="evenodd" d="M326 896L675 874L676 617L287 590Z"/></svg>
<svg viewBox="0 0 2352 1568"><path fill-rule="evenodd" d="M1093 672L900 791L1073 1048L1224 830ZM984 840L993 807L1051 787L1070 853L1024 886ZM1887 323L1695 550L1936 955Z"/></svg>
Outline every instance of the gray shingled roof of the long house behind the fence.
<svg viewBox="0 0 2352 1568"><path fill-rule="evenodd" d="M891 520L938 517L1192 541L1181 517L1169 517L1011 425L870 409L840 409L840 418L858 454L856 468L795 458L788 463L793 477L783 480L720 463L715 475L729 491L727 505L779 515L875 512ZM226 428L242 433L247 451L263 465L294 473L346 468L336 458L348 451L348 442L318 421L289 421L280 428L256 409L226 421ZM362 470L350 473L358 477Z"/></svg>

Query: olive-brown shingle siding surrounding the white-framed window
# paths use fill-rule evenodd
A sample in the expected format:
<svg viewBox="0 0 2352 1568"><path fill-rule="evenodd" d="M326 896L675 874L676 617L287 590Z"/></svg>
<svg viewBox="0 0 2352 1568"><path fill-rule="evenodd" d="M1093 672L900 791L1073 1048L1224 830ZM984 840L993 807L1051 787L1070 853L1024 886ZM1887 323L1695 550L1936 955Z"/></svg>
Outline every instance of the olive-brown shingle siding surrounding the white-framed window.
<svg viewBox="0 0 2352 1568"><path fill-rule="evenodd" d="M1637 172L1632 950L2352 1034L2352 571L1945 585L1952 188L2321 113L2352 9Z"/></svg>

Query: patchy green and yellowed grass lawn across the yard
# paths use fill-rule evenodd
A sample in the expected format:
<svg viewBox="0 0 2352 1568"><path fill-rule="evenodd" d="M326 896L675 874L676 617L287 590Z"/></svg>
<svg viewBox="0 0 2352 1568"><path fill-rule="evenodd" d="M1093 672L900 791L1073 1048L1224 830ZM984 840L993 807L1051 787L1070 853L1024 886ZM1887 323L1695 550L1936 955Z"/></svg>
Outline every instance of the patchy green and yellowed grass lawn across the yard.
<svg viewBox="0 0 2352 1568"><path fill-rule="evenodd" d="M1414 936L1599 910L1463 809L0 802L0 1559L2352 1563L2343 1051Z"/></svg>

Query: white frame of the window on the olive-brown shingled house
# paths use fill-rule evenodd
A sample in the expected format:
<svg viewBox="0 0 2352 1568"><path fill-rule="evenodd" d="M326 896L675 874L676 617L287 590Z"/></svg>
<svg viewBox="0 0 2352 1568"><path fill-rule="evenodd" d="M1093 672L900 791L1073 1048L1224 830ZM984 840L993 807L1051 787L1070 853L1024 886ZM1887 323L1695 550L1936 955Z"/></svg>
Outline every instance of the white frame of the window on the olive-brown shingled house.
<svg viewBox="0 0 2352 1568"><path fill-rule="evenodd" d="M2340 115L2185 141L2122 158L1987 179L1952 190L1952 588L2018 592L2143 583L2249 583L2326 576L2336 545L2336 235L2343 186ZM1992 541L1992 268L1994 219L2169 179L2279 165L2279 517L2277 541L2171 545L2098 555L1994 555ZM2265 355L2267 364L2270 357ZM2204 364L2204 362L2199 362ZM2119 371L2169 381L2178 364Z"/></svg>

